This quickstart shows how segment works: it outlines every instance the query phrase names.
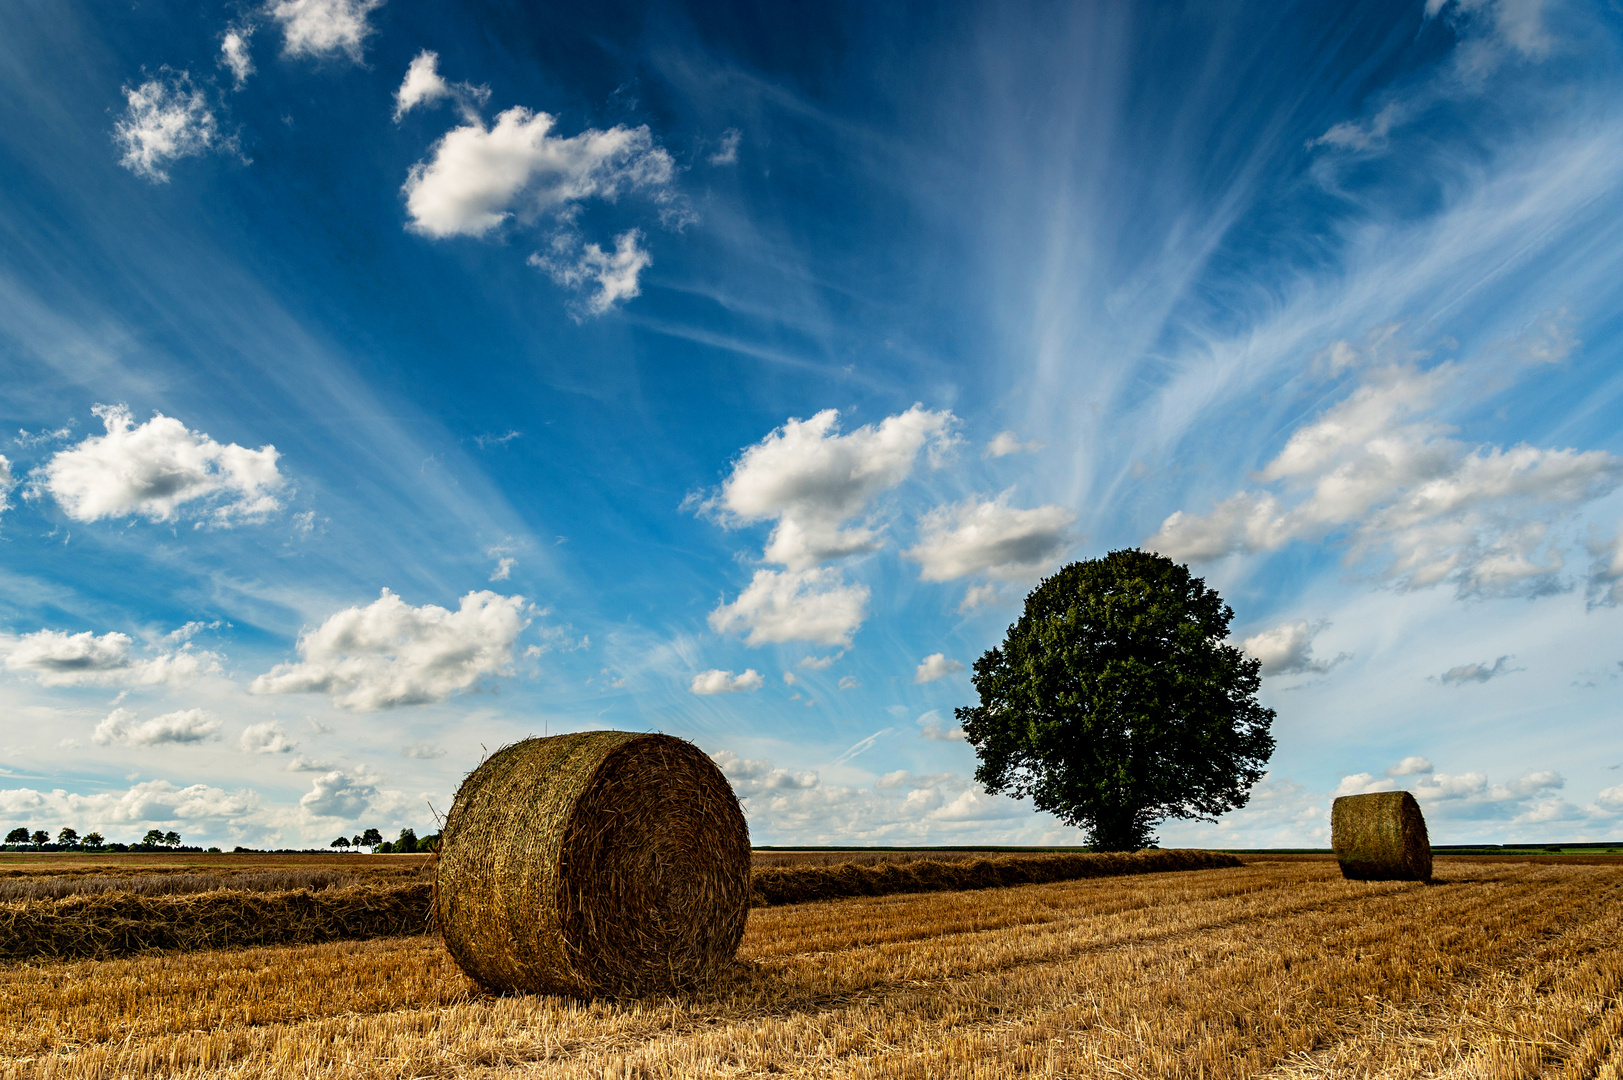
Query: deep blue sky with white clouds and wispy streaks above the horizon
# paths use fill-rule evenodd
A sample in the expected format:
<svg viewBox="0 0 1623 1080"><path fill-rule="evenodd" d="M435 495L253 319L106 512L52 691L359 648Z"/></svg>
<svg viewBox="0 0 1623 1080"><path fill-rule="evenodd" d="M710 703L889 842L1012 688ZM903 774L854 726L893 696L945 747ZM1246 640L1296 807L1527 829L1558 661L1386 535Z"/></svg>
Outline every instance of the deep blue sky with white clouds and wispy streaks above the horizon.
<svg viewBox="0 0 1623 1080"><path fill-rule="evenodd" d="M591 6L0 10L0 817L612 726L756 843L1073 843L953 706L1144 546L1279 713L1162 843L1618 835L1615 5Z"/></svg>

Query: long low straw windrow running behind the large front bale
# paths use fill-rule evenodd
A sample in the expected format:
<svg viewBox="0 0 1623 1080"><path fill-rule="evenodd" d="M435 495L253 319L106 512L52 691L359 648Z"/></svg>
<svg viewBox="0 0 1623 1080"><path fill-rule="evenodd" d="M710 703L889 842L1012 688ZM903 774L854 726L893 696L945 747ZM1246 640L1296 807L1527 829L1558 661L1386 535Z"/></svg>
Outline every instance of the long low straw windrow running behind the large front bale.
<svg viewBox="0 0 1623 1080"><path fill-rule="evenodd" d="M1141 851L758 867L750 879L750 903L764 908L844 896L998 888L1232 866L1240 866L1240 861L1214 851ZM432 885L411 882L276 893L216 890L149 896L104 892L0 903L0 957L109 958L159 948L307 945L424 934L432 931Z"/></svg>

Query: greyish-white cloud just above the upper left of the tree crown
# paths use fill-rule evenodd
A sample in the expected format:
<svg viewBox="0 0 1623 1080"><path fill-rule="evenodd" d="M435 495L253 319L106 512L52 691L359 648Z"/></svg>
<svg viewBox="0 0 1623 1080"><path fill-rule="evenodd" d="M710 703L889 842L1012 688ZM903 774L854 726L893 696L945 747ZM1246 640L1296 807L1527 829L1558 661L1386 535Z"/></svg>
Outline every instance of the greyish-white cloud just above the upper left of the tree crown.
<svg viewBox="0 0 1623 1080"><path fill-rule="evenodd" d="M1027 578L1060 557L1076 520L1065 507L1021 510L997 499L971 495L936 507L919 521L919 542L902 552L919 564L925 581L951 581L971 573Z"/></svg>

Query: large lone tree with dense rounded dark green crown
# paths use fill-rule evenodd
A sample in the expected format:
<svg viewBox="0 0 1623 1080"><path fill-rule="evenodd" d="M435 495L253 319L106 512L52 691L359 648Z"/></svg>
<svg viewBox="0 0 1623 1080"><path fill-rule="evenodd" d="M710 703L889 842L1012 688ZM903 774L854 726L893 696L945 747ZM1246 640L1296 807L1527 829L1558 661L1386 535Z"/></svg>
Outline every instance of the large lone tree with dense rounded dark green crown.
<svg viewBox="0 0 1623 1080"><path fill-rule="evenodd" d="M1143 551L1073 562L975 661L958 710L988 793L1031 796L1104 851L1156 843L1165 819L1245 806L1274 752L1258 661L1233 611L1188 567Z"/></svg>

